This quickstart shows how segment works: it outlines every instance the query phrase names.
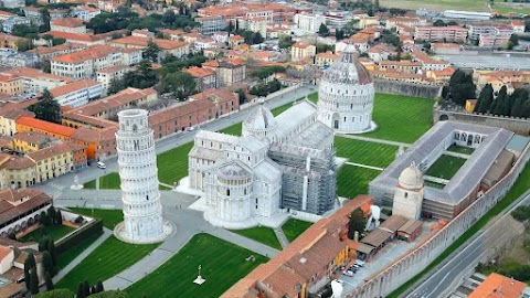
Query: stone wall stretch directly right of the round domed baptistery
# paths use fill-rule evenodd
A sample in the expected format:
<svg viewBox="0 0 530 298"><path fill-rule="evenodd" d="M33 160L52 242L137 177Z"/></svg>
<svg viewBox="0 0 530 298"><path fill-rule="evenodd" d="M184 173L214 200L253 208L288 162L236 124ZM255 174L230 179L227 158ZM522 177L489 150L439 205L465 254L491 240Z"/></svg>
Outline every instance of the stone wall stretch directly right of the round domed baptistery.
<svg viewBox="0 0 530 298"><path fill-rule="evenodd" d="M403 83L381 78L374 78L373 82L377 93L390 93L424 98L437 98L442 94L442 86Z"/></svg>

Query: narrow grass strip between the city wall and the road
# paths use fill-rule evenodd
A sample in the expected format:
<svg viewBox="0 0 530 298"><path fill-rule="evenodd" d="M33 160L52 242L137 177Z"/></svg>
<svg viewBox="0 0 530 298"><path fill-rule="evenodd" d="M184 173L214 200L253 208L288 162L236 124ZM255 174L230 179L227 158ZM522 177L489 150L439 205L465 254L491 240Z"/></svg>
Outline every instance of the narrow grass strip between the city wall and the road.
<svg viewBox="0 0 530 298"><path fill-rule="evenodd" d="M447 249L445 249L433 263L431 263L425 269L423 269L420 274L411 278L409 281L403 284L396 290L391 292L388 298L398 298L402 295L406 289L409 289L412 285L414 285L420 278L426 275L431 269L436 267L438 264L444 262L446 257L448 257L453 252L458 249L466 241L468 241L475 233L477 233L480 228L483 228L489 220L498 215L502 210L509 206L512 202L515 202L519 196L521 196L526 191L530 190L530 164L527 164L524 170L517 179L513 187L511 187L510 191L502 198L502 200L497 203L490 211L488 211L478 222L476 222L469 230L467 230L460 237L458 237Z"/></svg>

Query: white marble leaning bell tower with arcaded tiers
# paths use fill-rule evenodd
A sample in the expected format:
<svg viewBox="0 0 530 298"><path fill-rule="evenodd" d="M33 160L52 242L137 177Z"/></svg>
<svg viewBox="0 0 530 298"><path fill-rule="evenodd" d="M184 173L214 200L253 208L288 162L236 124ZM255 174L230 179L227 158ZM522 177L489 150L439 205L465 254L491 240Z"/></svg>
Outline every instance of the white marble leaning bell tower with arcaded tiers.
<svg viewBox="0 0 530 298"><path fill-rule="evenodd" d="M131 243L162 241L171 232L165 224L158 191L157 156L153 131L148 126L147 110L118 113L116 132L124 222L115 234Z"/></svg>

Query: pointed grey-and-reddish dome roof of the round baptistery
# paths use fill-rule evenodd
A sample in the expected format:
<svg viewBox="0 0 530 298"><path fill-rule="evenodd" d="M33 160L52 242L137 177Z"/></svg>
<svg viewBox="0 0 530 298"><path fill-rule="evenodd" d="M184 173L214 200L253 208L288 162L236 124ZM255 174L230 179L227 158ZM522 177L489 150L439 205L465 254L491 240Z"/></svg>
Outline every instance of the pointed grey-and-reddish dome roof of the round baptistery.
<svg viewBox="0 0 530 298"><path fill-rule="evenodd" d="M346 46L342 55L324 72L322 79L335 84L367 85L373 79L367 67L359 62L353 45Z"/></svg>

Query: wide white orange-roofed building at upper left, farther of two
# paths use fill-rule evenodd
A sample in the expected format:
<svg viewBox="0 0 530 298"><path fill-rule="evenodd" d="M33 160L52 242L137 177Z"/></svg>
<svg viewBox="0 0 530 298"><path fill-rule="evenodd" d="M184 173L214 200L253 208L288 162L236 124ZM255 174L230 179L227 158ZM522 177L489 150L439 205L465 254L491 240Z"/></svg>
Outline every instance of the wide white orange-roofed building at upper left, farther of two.
<svg viewBox="0 0 530 298"><path fill-rule="evenodd" d="M108 45L89 46L54 57L50 62L52 74L74 79L95 78L97 71L124 63L120 49Z"/></svg>

